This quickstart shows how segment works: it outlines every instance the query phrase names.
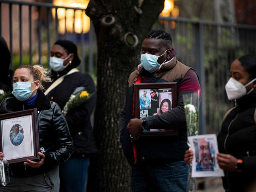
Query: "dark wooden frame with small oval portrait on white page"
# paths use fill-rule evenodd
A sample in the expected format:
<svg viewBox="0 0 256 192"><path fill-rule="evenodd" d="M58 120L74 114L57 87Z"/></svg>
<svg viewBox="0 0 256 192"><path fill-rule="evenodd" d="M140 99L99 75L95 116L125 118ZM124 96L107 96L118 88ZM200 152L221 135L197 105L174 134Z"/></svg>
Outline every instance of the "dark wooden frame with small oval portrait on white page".
<svg viewBox="0 0 256 192"><path fill-rule="evenodd" d="M0 115L0 147L9 164L40 160L36 109Z"/></svg>

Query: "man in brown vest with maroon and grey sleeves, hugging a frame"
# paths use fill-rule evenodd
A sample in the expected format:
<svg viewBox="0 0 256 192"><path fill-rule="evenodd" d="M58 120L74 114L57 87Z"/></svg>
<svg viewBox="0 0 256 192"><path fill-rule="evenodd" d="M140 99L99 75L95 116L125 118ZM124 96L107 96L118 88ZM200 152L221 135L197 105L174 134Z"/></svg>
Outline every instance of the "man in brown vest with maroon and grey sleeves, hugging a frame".
<svg viewBox="0 0 256 192"><path fill-rule="evenodd" d="M163 30L146 35L142 53L140 65L129 77L119 119L123 151L131 164L131 187L133 192L186 191L189 167L183 157L189 147L182 95L200 91L198 76L176 60L172 38ZM177 82L176 107L163 114L136 119L133 83L161 82ZM140 138L143 129L177 129L178 136Z"/></svg>

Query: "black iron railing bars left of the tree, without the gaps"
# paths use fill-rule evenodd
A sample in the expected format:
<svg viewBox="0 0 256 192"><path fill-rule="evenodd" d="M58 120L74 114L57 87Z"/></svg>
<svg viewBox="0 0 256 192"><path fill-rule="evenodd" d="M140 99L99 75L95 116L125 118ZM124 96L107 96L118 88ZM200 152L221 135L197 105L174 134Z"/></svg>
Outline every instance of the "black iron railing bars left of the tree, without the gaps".
<svg viewBox="0 0 256 192"><path fill-rule="evenodd" d="M19 11L17 12L13 12L13 7L19 7ZM38 54L38 61L36 63L39 64L44 64L41 61L41 58L43 56L43 54L47 55L47 61L49 62L49 56L50 56L50 47L52 46L52 43L54 43L54 41L56 41L59 38L63 38L63 39L70 39L72 41L74 41L79 48L79 52L80 52L80 57L81 57L81 71L85 72L88 71L90 73L93 73L93 43L95 43L95 38L93 35L93 29L92 26L90 28L90 31L86 34L84 34L83 32L81 32L80 34L77 34L74 31L73 28L73 32L67 32L67 26L66 26L66 22L64 22L65 26L65 33L64 34L60 34L58 32L58 9L65 9L65 12L67 12L67 10L73 10L74 13L74 19L75 19L75 11L85 11L85 9L81 9L81 8L75 8L75 7L64 7L64 6L54 6L53 4L50 3L39 3L39 2L24 2L24 1L14 1L14 0L0 0L0 35L4 36L6 34L2 33L2 22L3 20L6 18L6 15L4 15L2 13L2 8L6 8L8 7L9 9L9 34L7 35L9 40L9 50L12 53L11 54L11 68L14 68L15 66L13 66L13 16L14 15L19 15L19 65L22 64L34 64L35 61L33 62L33 54L35 52L37 52ZM29 63L24 63L24 47L23 47L23 43L24 40L22 38L22 31L23 31L23 22L24 22L24 13L22 12L22 8L26 7L26 12L28 12L28 14L26 14L27 16L27 20L28 20L28 41L29 41L29 48L28 48L28 55L29 55ZM55 10L55 19L53 19L52 17L52 11ZM38 15L38 19L36 22L33 21L32 18L32 14L36 12ZM44 15L42 15L42 13L45 13ZM42 23L42 19L44 19L44 24ZM66 19L66 16L65 16ZM81 20L83 20L83 18L81 18ZM34 30L34 28L32 27L32 25L35 24L36 25L36 30ZM83 24L83 22L82 22ZM75 25L75 20L73 21L73 27ZM45 28L44 30L42 28ZM83 31L83 30L82 30ZM17 34L17 33L15 33ZM32 39L32 35L37 35L37 41L33 42ZM42 40L42 36L44 36L44 39ZM45 37L46 36L46 37ZM53 37L54 36L54 37ZM79 36L79 41L77 40L77 36ZM23 36L24 37L24 36ZM86 39L85 39L86 38ZM43 41L43 42L42 42ZM47 43L47 51L43 52L42 50L42 43L45 44L45 42ZM35 43L37 43L37 45L35 45ZM90 47L90 48L89 48ZM87 52L85 53L85 48L87 50ZM87 54L87 55L86 55ZM88 64L85 65L85 60L88 60ZM47 64L47 63L45 63ZM86 69L86 66L88 66L88 69Z"/></svg>

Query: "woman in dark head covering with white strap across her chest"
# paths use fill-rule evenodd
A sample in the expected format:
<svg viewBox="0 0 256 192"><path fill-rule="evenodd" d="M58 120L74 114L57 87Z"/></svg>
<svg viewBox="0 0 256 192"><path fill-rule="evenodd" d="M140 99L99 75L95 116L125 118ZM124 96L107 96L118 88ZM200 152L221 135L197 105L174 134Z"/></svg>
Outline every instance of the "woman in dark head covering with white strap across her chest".
<svg viewBox="0 0 256 192"><path fill-rule="evenodd" d="M51 48L50 67L52 82L47 84L45 94L59 104L63 111L71 136L74 153L60 166L60 190L62 192L83 192L90 155L97 152L90 116L96 102L95 85L90 75L79 72L80 64L77 46L68 40L58 40ZM92 94L82 104L66 106L77 89Z"/></svg>

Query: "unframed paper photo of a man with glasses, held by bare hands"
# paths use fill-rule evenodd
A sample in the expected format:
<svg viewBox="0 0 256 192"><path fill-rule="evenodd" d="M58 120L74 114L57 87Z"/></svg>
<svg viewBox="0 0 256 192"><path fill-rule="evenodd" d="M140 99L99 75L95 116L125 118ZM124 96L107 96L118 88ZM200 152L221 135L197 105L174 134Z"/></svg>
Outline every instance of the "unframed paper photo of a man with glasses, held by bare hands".
<svg viewBox="0 0 256 192"><path fill-rule="evenodd" d="M194 151L192 177L223 177L224 172L217 163L216 134L190 136L188 140Z"/></svg>

